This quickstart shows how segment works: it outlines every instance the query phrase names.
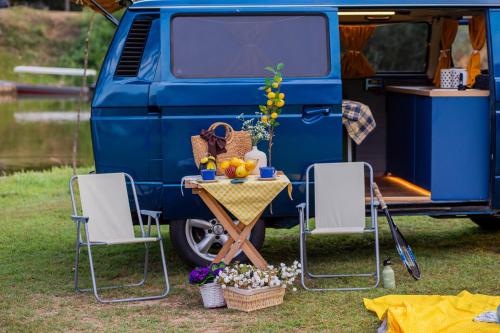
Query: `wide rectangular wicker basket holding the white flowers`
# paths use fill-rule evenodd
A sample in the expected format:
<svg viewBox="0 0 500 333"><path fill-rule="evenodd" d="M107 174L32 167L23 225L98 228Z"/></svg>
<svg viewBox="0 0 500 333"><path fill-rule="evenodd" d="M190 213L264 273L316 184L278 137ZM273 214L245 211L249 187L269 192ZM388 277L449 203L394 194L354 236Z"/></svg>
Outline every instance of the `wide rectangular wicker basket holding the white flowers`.
<svg viewBox="0 0 500 333"><path fill-rule="evenodd" d="M285 288L265 287L252 290L227 287L222 289L227 307L245 312L255 311L283 303Z"/></svg>

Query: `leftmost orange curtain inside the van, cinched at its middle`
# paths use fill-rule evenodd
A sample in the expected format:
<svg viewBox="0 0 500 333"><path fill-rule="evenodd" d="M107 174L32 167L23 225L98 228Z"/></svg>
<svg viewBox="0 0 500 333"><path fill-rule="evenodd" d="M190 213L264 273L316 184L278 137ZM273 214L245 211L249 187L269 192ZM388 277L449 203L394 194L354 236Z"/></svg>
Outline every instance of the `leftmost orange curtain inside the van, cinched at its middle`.
<svg viewBox="0 0 500 333"><path fill-rule="evenodd" d="M344 48L342 55L342 78L353 79L375 74L363 55L366 43L375 31L374 25L341 25L340 42Z"/></svg>

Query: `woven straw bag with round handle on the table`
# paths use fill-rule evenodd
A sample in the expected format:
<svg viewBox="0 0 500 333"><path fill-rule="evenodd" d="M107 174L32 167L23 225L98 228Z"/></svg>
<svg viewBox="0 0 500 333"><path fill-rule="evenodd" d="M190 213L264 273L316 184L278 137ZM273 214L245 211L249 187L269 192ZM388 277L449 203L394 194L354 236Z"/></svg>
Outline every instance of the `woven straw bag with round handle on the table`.
<svg viewBox="0 0 500 333"><path fill-rule="evenodd" d="M252 137L250 133L247 131L235 131L231 125L223 122L213 123L208 130L215 130L219 126L223 126L226 129L226 152L216 156L217 165L219 165L219 162L229 160L233 157L243 159L245 154L252 150ZM207 142L199 135L195 135L191 137L191 145L193 146L194 162L199 168L200 160L208 154ZM223 174L218 166L217 174Z"/></svg>

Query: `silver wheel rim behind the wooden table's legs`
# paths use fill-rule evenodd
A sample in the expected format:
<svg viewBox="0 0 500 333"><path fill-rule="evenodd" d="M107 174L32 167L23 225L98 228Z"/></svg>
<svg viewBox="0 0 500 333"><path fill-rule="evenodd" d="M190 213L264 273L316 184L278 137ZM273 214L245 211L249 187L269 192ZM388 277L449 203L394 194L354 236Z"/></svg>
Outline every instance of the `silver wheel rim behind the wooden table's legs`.
<svg viewBox="0 0 500 333"><path fill-rule="evenodd" d="M238 221L234 221L238 224ZM212 261L222 246L228 241L229 236L224 226L217 219L186 220L186 238L191 249L201 258ZM238 251L237 255L241 251Z"/></svg>

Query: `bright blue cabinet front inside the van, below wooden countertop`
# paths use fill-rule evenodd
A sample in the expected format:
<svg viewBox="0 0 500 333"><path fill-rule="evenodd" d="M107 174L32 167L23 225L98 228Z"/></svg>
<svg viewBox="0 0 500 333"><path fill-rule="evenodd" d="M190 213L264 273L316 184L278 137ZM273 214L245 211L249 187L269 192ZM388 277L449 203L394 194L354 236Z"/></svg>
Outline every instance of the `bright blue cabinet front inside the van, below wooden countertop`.
<svg viewBox="0 0 500 333"><path fill-rule="evenodd" d="M487 200L488 97L432 99L432 199Z"/></svg>

